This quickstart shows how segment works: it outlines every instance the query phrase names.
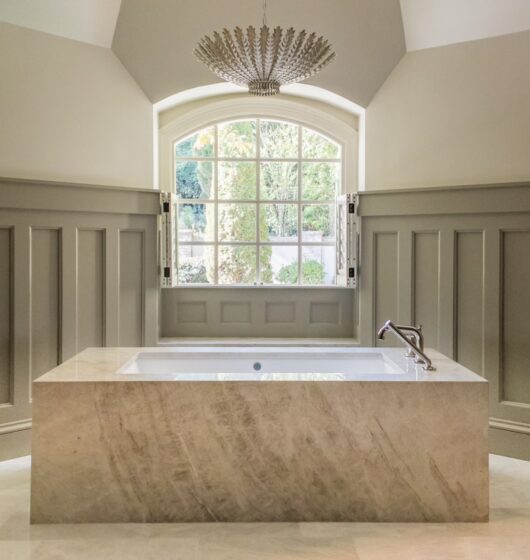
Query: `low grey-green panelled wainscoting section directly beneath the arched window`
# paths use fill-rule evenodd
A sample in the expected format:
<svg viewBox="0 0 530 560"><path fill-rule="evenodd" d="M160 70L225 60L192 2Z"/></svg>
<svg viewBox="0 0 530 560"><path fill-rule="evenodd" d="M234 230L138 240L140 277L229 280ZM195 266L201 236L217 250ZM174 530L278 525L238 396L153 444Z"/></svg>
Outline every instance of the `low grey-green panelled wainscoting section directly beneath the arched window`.
<svg viewBox="0 0 530 560"><path fill-rule="evenodd" d="M347 288L167 288L161 336L353 339L355 299Z"/></svg>

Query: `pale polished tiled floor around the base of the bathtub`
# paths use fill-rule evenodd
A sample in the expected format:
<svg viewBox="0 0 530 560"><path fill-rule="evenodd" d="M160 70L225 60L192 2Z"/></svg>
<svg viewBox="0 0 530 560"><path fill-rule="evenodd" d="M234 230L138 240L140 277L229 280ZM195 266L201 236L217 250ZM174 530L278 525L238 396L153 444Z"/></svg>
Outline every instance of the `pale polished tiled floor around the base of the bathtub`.
<svg viewBox="0 0 530 560"><path fill-rule="evenodd" d="M530 560L530 463L492 456L483 524L30 526L30 459L0 463L1 560Z"/></svg>

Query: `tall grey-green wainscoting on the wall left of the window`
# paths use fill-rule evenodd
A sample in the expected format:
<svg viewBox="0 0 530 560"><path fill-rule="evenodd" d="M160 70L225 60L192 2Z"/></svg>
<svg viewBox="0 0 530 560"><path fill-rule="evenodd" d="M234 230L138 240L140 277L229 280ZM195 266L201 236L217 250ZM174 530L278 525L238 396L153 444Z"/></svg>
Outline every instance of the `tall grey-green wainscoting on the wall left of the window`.
<svg viewBox="0 0 530 560"><path fill-rule="evenodd" d="M155 345L158 195L0 180L0 460L29 452L31 381L88 346Z"/></svg>

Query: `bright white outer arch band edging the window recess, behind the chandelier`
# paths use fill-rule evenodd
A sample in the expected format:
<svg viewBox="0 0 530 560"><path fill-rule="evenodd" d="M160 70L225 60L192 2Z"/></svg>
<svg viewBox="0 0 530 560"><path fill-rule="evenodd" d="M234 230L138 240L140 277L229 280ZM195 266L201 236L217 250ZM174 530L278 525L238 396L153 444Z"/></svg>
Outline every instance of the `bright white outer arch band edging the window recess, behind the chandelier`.
<svg viewBox="0 0 530 560"><path fill-rule="evenodd" d="M159 175L159 130L158 130L158 115L163 111L167 111L178 105L190 103L191 101L198 101L200 99L215 98L221 95L241 94L245 93L245 89L228 82L220 82L208 86L200 86L184 90L153 105L153 185L155 189L160 188L160 175ZM349 99L342 97L332 91L317 86L310 86L308 84L291 84L282 88L282 93L291 95L293 97L312 99L326 103L333 107L337 107L351 113L359 119L358 131L358 166L357 166L357 188L363 191L366 185L366 109L357 103L353 103ZM250 97L250 99L253 99ZM258 98L264 101L263 98Z"/></svg>

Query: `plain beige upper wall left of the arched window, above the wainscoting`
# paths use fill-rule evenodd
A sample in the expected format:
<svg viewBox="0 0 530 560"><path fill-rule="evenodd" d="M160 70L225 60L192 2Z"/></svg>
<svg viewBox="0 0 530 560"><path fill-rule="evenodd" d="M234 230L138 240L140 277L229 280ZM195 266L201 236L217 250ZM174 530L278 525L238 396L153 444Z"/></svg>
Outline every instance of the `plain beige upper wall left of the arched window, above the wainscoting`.
<svg viewBox="0 0 530 560"><path fill-rule="evenodd" d="M110 49L0 23L0 123L0 176L152 186L152 105Z"/></svg>

